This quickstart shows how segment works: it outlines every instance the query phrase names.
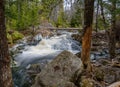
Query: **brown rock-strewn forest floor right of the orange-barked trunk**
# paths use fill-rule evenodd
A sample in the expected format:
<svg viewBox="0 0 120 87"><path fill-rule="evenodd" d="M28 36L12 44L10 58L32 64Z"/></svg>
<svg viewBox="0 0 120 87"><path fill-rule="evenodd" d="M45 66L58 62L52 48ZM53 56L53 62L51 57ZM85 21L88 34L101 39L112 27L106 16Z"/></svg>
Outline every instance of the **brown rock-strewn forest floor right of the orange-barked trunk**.
<svg viewBox="0 0 120 87"><path fill-rule="evenodd" d="M105 31L93 33L91 51L108 50L109 39ZM120 45L116 43L116 57L110 59L103 57L91 61L93 66L92 79L95 87L107 87L108 85L120 81ZM106 52L109 54L109 52ZM120 84L120 83L119 83ZM87 87L87 86L86 86ZM113 87L120 87L113 86Z"/></svg>

